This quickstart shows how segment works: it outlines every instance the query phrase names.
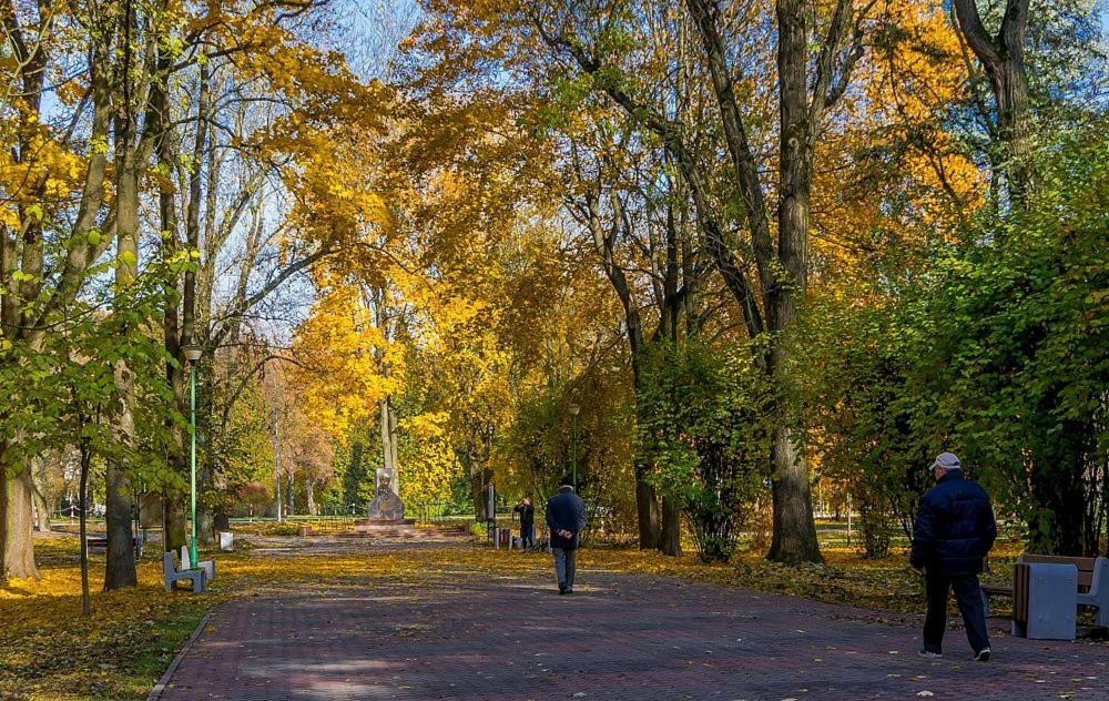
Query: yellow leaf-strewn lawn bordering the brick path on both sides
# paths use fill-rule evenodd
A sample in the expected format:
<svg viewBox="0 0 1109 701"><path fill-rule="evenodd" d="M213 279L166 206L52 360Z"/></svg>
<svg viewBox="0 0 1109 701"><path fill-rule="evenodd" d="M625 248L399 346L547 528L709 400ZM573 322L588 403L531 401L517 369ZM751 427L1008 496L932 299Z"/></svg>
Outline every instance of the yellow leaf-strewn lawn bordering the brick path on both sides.
<svg viewBox="0 0 1109 701"><path fill-rule="evenodd" d="M1006 543L996 560L1000 580L1019 547ZM75 538L37 543L42 579L0 586L0 698L29 701L143 699L200 620L221 601L250 596L334 596L377 579L417 582L445 570L550 578L549 558L488 547L441 547L328 553L252 555L251 548L218 553L217 577L206 595L162 589L161 562L144 559L138 589L99 591L103 556L91 561L92 614L80 616L80 567ZM922 585L904 553L868 560L847 549L825 549L821 566L787 568L757 553L730 565L704 565L692 556L668 558L628 548L587 548L579 579L590 569L681 577L790 593L887 611L919 612Z"/></svg>

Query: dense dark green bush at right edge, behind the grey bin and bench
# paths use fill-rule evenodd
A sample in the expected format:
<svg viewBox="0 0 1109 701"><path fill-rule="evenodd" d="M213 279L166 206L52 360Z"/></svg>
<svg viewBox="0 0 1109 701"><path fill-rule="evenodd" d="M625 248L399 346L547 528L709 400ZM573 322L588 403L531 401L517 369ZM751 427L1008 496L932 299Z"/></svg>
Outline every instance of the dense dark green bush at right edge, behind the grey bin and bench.
<svg viewBox="0 0 1109 701"><path fill-rule="evenodd" d="M1037 550L1092 555L1109 488L1109 142L1058 144L1027 211L947 262L933 301L937 414Z"/></svg>

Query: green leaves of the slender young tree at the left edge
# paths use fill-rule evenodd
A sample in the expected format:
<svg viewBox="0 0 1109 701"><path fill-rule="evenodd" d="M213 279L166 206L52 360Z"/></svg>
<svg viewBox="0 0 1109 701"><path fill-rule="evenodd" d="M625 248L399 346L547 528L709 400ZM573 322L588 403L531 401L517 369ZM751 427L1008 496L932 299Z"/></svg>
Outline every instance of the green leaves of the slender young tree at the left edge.
<svg viewBox="0 0 1109 701"><path fill-rule="evenodd" d="M0 441L6 468L19 471L30 458L64 450L80 436L92 454L129 466L152 486L175 486L180 477L163 459L172 439L167 423L184 423L164 382L167 356L149 323L161 306L154 273L113 301L105 314L78 303L53 333L6 344L0 395L7 398ZM123 395L124 374L131 397ZM134 434L121 430L124 402Z"/></svg>

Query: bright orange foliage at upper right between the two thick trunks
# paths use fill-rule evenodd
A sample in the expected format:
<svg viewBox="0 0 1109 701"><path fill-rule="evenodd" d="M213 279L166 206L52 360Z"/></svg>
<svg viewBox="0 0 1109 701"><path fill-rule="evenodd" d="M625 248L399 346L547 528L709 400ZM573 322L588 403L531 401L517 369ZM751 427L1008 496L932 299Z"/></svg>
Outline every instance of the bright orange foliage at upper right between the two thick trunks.
<svg viewBox="0 0 1109 701"><path fill-rule="evenodd" d="M943 4L885 0L868 30L857 89L817 144L813 186L816 258L846 285L885 256L918 255L980 206L986 190L946 125L968 77Z"/></svg>

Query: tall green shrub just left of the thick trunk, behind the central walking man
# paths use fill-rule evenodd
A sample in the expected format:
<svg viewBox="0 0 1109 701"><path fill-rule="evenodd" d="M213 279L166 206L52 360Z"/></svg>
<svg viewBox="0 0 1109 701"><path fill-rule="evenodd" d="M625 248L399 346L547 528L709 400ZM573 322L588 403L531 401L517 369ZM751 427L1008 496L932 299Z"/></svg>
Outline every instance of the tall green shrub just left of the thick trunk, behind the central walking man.
<svg viewBox="0 0 1109 701"><path fill-rule="evenodd" d="M640 449L655 486L683 504L705 561L731 558L769 475L772 395L752 357L700 341L645 357Z"/></svg>

